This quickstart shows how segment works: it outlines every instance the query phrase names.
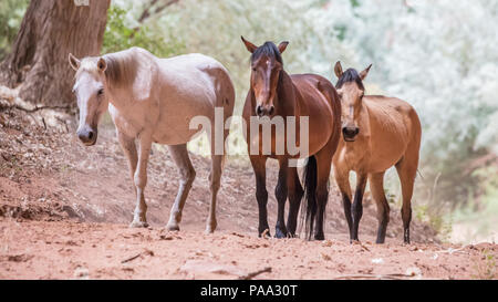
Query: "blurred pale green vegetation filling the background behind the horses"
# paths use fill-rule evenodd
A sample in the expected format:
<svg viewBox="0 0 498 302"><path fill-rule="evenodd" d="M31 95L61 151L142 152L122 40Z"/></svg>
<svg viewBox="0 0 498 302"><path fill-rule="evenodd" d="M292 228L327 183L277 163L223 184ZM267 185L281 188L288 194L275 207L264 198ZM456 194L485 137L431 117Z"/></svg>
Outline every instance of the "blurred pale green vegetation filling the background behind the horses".
<svg viewBox="0 0 498 302"><path fill-rule="evenodd" d="M9 52L28 0L0 3L0 60ZM200 52L231 73L240 114L249 54L240 35L262 44L290 41L290 73L332 64L373 63L367 93L397 96L423 127L415 214L457 241L498 236L498 6L495 0L113 0L103 52L132 45L158 56ZM237 125L232 152L246 146ZM190 149L203 153L198 139ZM400 200L395 173L387 194Z"/></svg>

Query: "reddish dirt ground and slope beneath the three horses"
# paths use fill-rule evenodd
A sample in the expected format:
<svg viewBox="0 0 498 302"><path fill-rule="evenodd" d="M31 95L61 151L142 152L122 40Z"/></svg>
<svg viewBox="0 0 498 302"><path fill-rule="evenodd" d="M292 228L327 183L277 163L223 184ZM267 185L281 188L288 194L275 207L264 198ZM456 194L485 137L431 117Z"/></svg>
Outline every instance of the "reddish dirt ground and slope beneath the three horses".
<svg viewBox="0 0 498 302"><path fill-rule="evenodd" d="M56 115L6 106L0 103L0 279L243 279L253 272L253 279L497 278L496 244L440 243L430 227L416 220L414 243L402 244L395 205L387 243L373 244L377 221L367 195L362 243L350 244L333 185L328 240L258 238L255 179L243 160L228 162L218 230L205 235L209 160L193 156L197 178L181 230L168 232L163 227L178 174L159 146L153 149L146 189L151 228L129 229L134 192L112 126L100 128L96 146L84 147L74 125L54 123ZM269 222L274 226L276 163L269 164L268 177Z"/></svg>

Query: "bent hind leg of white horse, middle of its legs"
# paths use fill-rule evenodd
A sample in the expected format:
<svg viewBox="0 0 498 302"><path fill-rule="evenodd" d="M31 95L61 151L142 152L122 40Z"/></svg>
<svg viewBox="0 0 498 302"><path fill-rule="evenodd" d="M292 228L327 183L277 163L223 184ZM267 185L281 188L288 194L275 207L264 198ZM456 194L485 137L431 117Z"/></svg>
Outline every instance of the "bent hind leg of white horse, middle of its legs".
<svg viewBox="0 0 498 302"><path fill-rule="evenodd" d="M169 222L166 226L168 230L179 230L178 223L181 221L181 211L184 210L185 201L190 191L191 184L196 178L196 171L191 165L188 156L187 145L168 146L169 154L173 157L178 170L180 173L178 194L176 195L175 204L172 207Z"/></svg>

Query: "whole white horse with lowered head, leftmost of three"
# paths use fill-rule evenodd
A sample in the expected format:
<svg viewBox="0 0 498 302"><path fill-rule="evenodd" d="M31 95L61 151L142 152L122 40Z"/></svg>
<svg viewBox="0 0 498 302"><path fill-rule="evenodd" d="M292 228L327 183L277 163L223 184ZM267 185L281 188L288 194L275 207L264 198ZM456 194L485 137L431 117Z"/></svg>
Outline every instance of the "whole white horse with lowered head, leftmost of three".
<svg viewBox="0 0 498 302"><path fill-rule="evenodd" d="M205 116L215 127L215 108L222 108L224 124L234 113L235 90L228 71L203 54L158 59L146 50L132 48L100 58L77 60L69 55L76 71L74 93L80 108L79 138L92 146L97 138L102 114L110 110L120 144L128 159L136 191L131 227L147 227L144 189L152 143L168 145L181 175L168 230L179 230L181 211L195 179L187 143L198 133L190 129L195 116ZM229 121L228 121L229 123ZM220 187L222 155L215 154L211 131L211 204L206 232L216 229L216 196ZM222 129L224 142L228 129ZM208 134L209 135L209 134ZM138 152L135 140L138 144Z"/></svg>

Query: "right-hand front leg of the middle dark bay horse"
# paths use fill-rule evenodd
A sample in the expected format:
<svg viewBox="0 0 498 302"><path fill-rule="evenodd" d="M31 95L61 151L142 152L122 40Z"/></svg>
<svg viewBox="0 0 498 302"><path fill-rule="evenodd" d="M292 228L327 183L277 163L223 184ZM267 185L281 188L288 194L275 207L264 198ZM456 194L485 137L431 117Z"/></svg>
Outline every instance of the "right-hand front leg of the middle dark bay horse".
<svg viewBox="0 0 498 302"><path fill-rule="evenodd" d="M274 227L276 238L287 238L287 228L284 220L286 201L287 201L287 177L288 177L288 166L289 160L287 158L281 158L279 160L279 180L277 187L274 188L274 196L278 202L278 214L277 214L277 225Z"/></svg>

